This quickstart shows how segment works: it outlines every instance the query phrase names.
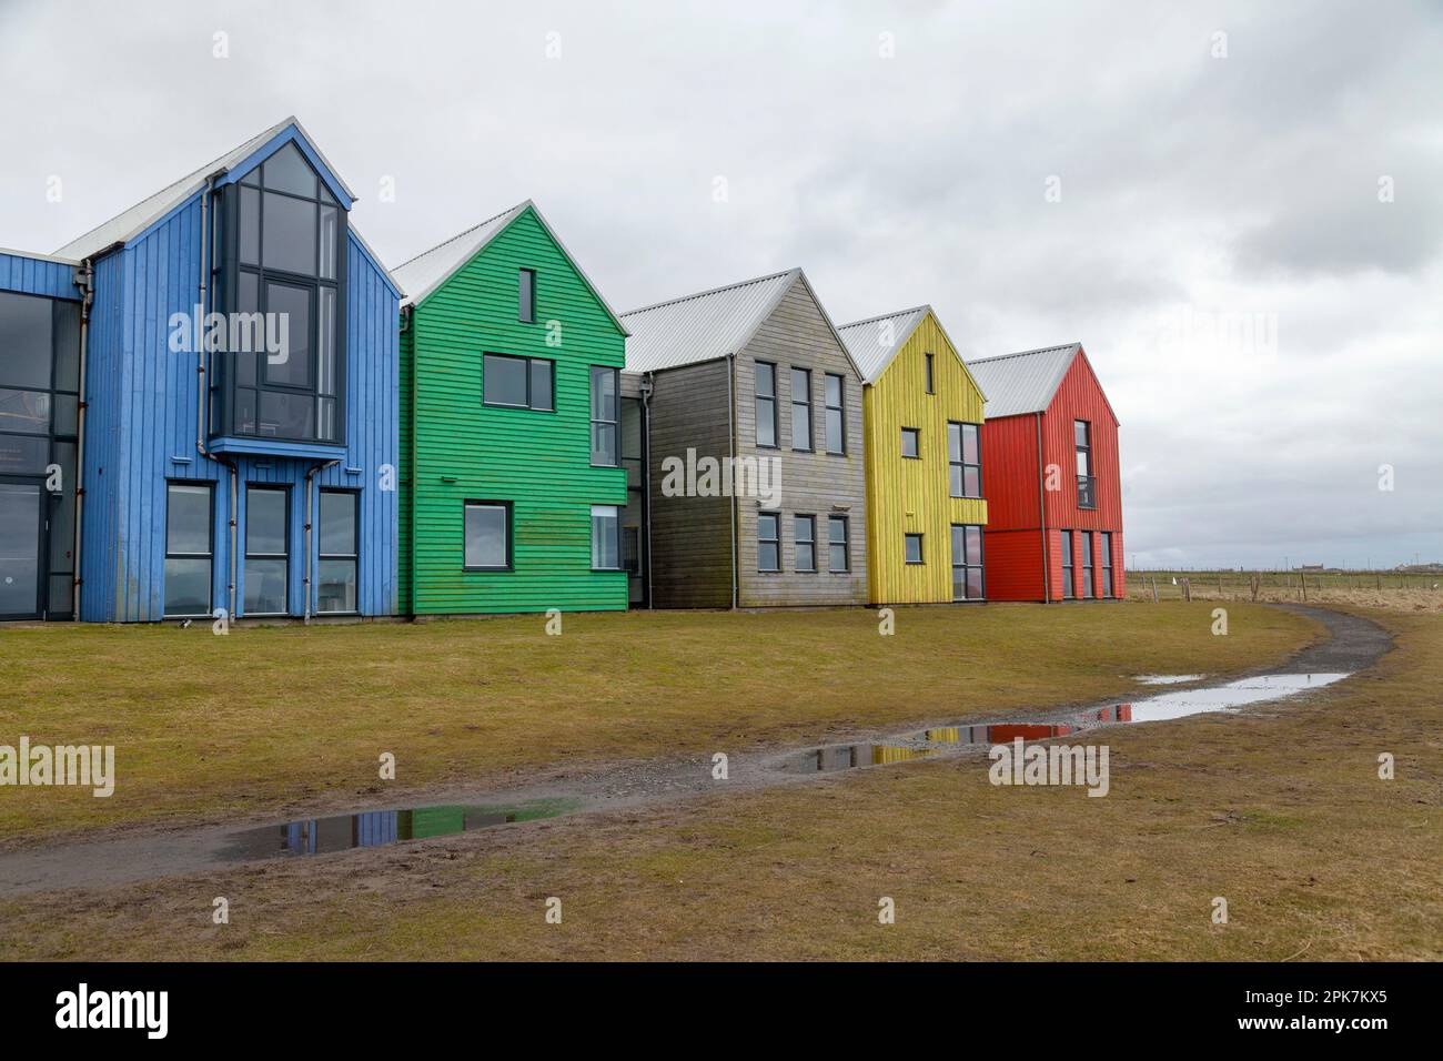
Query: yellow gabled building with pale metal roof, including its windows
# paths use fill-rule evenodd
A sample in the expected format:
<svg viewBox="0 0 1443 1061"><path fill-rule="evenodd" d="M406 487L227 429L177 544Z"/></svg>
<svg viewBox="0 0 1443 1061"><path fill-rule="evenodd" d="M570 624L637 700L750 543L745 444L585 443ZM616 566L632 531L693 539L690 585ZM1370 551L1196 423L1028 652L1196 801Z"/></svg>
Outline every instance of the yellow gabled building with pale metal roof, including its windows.
<svg viewBox="0 0 1443 1061"><path fill-rule="evenodd" d="M863 377L867 601L986 599L986 401L931 306L837 329Z"/></svg>

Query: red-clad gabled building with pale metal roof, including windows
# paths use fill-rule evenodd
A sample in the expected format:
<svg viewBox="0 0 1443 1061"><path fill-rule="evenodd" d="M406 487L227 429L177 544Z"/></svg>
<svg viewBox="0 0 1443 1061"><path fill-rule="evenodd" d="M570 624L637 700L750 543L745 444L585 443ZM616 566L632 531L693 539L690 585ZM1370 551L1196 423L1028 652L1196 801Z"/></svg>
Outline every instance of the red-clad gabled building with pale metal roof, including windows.
<svg viewBox="0 0 1443 1061"><path fill-rule="evenodd" d="M967 367L987 396L987 599L1121 598L1117 416L1082 345Z"/></svg>

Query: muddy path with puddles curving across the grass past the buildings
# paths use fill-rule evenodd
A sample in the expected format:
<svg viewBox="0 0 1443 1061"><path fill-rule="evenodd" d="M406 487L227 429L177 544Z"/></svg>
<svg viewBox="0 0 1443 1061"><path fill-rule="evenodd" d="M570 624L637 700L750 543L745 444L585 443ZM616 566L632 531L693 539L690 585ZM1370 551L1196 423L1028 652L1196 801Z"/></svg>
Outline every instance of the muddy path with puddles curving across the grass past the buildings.
<svg viewBox="0 0 1443 1061"><path fill-rule="evenodd" d="M94 840L36 844L0 855L0 895L65 888L108 888L188 875L247 862L304 856L365 857L392 843L492 829L571 814L626 811L700 795L769 785L808 784L837 771L896 765L913 759L981 754L996 742L1049 739L1105 726L1162 722L1202 712L1238 710L1306 694L1345 680L1387 652L1392 639L1369 619L1322 608L1277 605L1326 628L1326 637L1283 664L1227 680L1167 684L1131 703L1110 700L1006 712L967 719L935 719L906 730L857 729L824 745L789 745L724 755L632 761L586 772L551 769L525 784L452 785L375 803L316 803L290 821L237 820L166 831L127 830Z"/></svg>

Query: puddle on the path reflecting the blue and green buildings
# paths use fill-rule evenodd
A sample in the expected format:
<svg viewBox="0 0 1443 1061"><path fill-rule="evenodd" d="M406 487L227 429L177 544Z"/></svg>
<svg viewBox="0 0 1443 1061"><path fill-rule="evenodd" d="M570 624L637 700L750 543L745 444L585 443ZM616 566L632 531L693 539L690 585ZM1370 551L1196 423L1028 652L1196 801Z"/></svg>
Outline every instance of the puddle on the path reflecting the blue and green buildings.
<svg viewBox="0 0 1443 1061"><path fill-rule="evenodd" d="M579 800L534 800L518 804L459 804L372 810L303 818L278 826L245 829L225 837L221 857L229 862L289 857L293 855L330 855L356 847L381 847L405 840L470 833L515 821L554 818L576 810Z"/></svg>

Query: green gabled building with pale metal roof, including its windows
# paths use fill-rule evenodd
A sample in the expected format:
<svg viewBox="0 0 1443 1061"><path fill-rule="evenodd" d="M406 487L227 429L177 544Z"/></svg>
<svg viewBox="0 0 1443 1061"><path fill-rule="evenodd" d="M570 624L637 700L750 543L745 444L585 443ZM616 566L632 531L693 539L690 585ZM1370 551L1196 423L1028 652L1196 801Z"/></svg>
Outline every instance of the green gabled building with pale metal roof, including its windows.
<svg viewBox="0 0 1443 1061"><path fill-rule="evenodd" d="M392 276L401 611L625 609L616 313L530 201Z"/></svg>

